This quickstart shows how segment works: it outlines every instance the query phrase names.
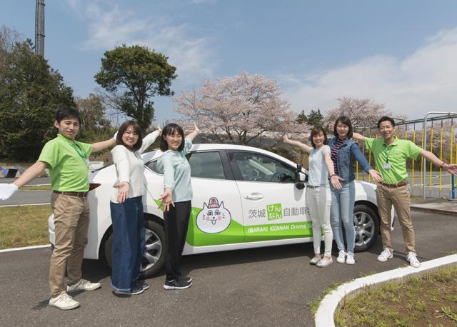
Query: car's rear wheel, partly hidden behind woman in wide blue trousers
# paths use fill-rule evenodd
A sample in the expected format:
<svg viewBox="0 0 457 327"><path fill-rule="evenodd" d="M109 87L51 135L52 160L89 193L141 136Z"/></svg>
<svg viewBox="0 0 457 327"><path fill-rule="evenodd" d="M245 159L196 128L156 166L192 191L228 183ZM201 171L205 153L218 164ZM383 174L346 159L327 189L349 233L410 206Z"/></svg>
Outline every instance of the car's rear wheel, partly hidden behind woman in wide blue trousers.
<svg viewBox="0 0 457 327"><path fill-rule="evenodd" d="M159 273L165 263L165 231L164 226L152 221L149 218L144 220L146 230L145 241L146 251L144 252L143 262L141 263L141 278L150 278ZM111 267L112 263L112 243L113 233L106 238L104 245L104 255L106 263Z"/></svg>

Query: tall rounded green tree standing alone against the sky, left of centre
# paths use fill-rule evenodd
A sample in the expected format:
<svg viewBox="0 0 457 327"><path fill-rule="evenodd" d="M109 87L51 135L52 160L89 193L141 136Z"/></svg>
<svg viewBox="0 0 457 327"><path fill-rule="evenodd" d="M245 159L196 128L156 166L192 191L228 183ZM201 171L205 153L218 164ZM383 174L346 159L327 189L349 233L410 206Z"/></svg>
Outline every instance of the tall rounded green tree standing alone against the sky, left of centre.
<svg viewBox="0 0 457 327"><path fill-rule="evenodd" d="M153 96L172 96L176 67L168 58L145 46L116 47L106 51L95 81L110 94L115 106L146 131L154 120Z"/></svg>

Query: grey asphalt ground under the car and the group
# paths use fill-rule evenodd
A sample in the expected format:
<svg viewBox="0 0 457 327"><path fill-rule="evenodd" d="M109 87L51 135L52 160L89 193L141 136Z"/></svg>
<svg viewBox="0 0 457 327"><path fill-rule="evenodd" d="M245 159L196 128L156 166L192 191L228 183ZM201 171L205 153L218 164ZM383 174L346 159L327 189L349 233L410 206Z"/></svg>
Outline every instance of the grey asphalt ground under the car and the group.
<svg viewBox="0 0 457 327"><path fill-rule="evenodd" d="M456 216L414 211L413 222L421 261L457 251ZM396 227L393 244L403 251ZM308 264L310 243L186 256L183 269L194 278L194 286L165 291L161 275L147 281L148 291L131 298L111 293L109 269L103 263L84 261L84 277L103 286L77 294L81 308L68 312L47 306L49 248L0 253L0 326L313 326L306 303L331 283L406 264L400 252L379 263L379 251L380 242L356 253L356 265L335 262L328 268Z"/></svg>

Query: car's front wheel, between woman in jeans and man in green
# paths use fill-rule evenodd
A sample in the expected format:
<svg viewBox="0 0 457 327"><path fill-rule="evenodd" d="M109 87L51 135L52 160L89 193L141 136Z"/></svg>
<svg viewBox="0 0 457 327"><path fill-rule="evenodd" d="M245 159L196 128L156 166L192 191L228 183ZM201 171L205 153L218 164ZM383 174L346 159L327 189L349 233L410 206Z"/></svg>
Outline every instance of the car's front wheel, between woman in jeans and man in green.
<svg viewBox="0 0 457 327"><path fill-rule="evenodd" d="M371 248L379 235L379 216L370 206L356 204L354 206L353 222L356 228L355 252Z"/></svg>

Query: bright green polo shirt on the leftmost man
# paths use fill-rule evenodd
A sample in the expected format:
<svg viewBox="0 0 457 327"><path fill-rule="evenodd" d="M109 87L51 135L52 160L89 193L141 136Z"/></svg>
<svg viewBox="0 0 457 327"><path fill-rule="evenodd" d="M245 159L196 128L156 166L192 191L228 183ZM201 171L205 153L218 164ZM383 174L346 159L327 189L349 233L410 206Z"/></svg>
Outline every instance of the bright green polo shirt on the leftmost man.
<svg viewBox="0 0 457 327"><path fill-rule="evenodd" d="M51 188L61 192L89 191L89 156L92 145L71 141L61 134L44 145L38 161L51 173Z"/></svg>

